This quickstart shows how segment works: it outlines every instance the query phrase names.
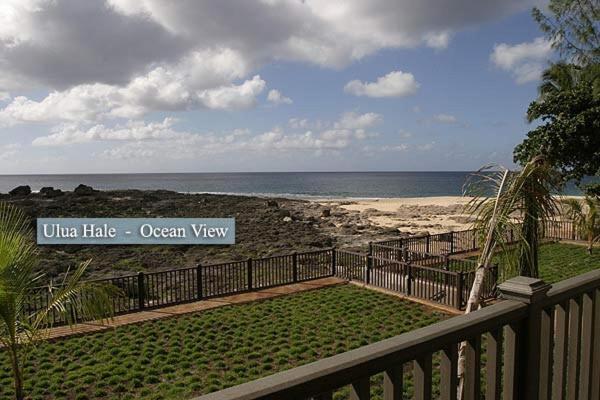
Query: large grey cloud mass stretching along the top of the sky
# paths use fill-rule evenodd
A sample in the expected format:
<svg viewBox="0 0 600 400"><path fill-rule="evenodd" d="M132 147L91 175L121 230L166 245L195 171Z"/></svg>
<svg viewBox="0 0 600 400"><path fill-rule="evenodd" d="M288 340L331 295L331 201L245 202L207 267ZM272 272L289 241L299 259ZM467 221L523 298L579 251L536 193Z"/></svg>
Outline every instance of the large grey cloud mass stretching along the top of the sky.
<svg viewBox="0 0 600 400"><path fill-rule="evenodd" d="M157 64L224 48L255 67L291 60L339 68L385 48L445 48L454 32L532 2L4 0L0 88L123 86Z"/></svg>

